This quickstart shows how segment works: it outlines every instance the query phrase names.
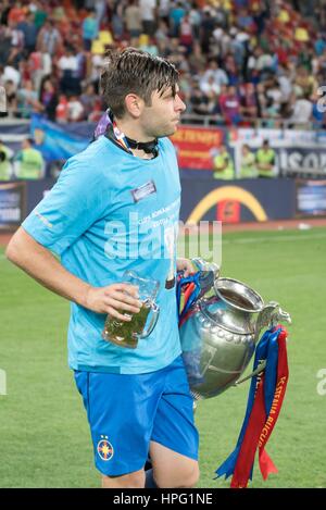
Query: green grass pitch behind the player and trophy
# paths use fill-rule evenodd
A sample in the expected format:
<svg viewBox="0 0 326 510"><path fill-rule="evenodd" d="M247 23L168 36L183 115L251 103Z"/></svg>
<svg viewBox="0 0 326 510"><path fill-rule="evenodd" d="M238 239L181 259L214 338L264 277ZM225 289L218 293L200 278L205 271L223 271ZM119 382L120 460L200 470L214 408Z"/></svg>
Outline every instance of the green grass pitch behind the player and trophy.
<svg viewBox="0 0 326 510"><path fill-rule="evenodd" d="M278 474L251 487L326 487L326 229L223 236L224 276L240 279L289 311L290 378L267 451ZM68 303L10 264L0 251L0 487L98 487L82 399L66 362ZM250 370L252 362L250 363ZM248 369L248 371L249 371ZM325 386L324 386L325 387ZM199 403L199 487L236 445L249 383Z"/></svg>

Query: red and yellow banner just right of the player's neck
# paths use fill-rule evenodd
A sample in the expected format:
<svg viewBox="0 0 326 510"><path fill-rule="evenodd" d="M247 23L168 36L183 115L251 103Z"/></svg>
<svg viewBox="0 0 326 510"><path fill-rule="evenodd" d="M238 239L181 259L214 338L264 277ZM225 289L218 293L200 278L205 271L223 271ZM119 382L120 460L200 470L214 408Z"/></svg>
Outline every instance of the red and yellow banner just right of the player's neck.
<svg viewBox="0 0 326 510"><path fill-rule="evenodd" d="M177 149L180 169L213 170L213 153L223 141L223 130L179 126L171 140Z"/></svg>

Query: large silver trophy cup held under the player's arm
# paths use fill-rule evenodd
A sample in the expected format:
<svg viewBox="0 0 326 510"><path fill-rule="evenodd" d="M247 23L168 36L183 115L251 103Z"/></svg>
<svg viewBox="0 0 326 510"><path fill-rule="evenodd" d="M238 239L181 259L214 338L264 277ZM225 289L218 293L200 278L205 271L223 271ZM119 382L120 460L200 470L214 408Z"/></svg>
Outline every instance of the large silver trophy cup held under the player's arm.
<svg viewBox="0 0 326 510"><path fill-rule="evenodd" d="M196 264L205 270L204 261ZM215 278L179 328L183 358L196 400L212 398L262 372L265 363L240 380L263 328L291 322L279 304L237 279Z"/></svg>

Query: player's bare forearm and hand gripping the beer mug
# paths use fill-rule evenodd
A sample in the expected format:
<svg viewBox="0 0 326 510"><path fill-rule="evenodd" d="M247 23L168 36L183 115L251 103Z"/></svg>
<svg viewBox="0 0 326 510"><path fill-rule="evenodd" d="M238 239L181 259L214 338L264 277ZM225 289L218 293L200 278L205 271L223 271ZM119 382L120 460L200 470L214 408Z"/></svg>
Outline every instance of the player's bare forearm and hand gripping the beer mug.
<svg viewBox="0 0 326 510"><path fill-rule="evenodd" d="M120 283L92 287L66 271L51 251L37 242L23 227L12 237L5 256L48 289L93 312L109 313L128 321L130 319L118 310L134 313L140 310L141 303L137 299L136 287Z"/></svg>

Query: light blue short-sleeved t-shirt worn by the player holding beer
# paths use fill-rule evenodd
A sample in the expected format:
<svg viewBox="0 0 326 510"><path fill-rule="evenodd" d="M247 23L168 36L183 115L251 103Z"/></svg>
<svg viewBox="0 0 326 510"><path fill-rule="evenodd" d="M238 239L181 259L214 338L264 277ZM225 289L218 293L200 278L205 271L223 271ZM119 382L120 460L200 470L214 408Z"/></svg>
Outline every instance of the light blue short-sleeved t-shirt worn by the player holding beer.
<svg viewBox="0 0 326 510"><path fill-rule="evenodd" d="M139 374L179 356L175 287L165 288L176 272L179 206L179 173L168 138L160 139L156 158L143 160L101 136L67 160L51 191L23 222L30 236L61 256L67 271L92 286L122 282L125 270L160 281L156 326L135 350L103 340L105 315L72 303L72 369Z"/></svg>

